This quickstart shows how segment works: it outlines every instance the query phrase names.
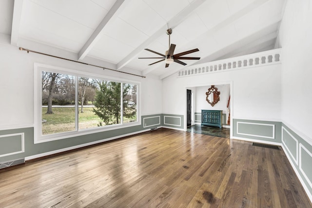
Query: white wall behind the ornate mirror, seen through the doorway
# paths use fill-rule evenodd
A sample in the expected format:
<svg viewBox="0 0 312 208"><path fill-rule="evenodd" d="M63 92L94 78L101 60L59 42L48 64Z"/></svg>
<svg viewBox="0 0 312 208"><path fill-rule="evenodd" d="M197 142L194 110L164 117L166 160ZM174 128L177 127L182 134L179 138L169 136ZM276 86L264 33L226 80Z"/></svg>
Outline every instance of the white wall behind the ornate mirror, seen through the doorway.
<svg viewBox="0 0 312 208"><path fill-rule="evenodd" d="M228 110L226 106L228 104L230 94L230 84L215 85L215 87L220 92L219 95L220 101L214 106L211 106L211 104L209 104L206 101L207 97L206 92L210 87L211 85L196 87L195 112L201 112L202 109L205 109L205 110L223 110L223 113L227 113Z"/></svg>

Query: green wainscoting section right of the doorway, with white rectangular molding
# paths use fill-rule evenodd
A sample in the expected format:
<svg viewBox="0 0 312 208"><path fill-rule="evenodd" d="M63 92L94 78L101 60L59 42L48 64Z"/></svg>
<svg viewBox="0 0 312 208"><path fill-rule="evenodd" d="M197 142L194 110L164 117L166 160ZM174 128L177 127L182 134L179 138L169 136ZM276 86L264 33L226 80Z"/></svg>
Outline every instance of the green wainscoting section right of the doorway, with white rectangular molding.
<svg viewBox="0 0 312 208"><path fill-rule="evenodd" d="M233 136L281 143L281 122L233 119Z"/></svg>

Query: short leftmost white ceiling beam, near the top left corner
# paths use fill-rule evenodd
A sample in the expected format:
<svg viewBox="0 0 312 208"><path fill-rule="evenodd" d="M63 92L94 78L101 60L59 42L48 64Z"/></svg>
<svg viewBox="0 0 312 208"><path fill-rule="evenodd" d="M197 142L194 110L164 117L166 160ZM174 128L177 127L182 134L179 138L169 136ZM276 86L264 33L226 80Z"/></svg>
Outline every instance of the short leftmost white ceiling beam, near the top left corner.
<svg viewBox="0 0 312 208"><path fill-rule="evenodd" d="M23 0L15 0L13 8L13 20L11 30L11 45L18 46L19 42L19 30L20 30L20 18L23 8Z"/></svg>

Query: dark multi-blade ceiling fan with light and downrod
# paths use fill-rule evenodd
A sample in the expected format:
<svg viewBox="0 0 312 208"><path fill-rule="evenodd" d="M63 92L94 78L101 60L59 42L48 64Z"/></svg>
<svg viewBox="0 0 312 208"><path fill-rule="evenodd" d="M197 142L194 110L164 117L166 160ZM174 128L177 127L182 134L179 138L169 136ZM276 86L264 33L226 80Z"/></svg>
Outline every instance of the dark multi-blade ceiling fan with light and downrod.
<svg viewBox="0 0 312 208"><path fill-rule="evenodd" d="M139 59L162 59L158 62L165 61L165 63L166 63L165 67L168 67L169 64L173 63L173 62L177 62L177 63L180 63L182 65L186 65L186 63L181 62L180 60L199 60L200 59L200 57L183 57L184 55L199 51L198 48L195 48L195 49L189 50L189 51L184 51L182 53L174 54L176 45L170 44L170 35L172 34L171 28L167 29L167 34L169 35L169 49L165 52L165 54L161 54L161 53L158 53L156 51L145 48L145 50L150 51L152 53L156 53L157 55L160 55L161 57L149 57L149 58L139 58ZM148 65L150 66L150 65L153 65L153 64L158 63L158 62L154 62L154 63L148 64Z"/></svg>

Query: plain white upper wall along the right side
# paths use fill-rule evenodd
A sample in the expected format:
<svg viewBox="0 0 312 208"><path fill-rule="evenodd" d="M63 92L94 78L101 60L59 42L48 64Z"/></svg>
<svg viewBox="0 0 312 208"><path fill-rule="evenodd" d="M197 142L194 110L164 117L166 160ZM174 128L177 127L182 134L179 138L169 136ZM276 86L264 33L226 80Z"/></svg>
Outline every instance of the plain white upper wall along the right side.
<svg viewBox="0 0 312 208"><path fill-rule="evenodd" d="M277 46L282 47L282 121L312 141L312 1L288 0Z"/></svg>

